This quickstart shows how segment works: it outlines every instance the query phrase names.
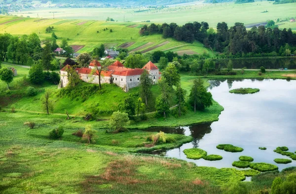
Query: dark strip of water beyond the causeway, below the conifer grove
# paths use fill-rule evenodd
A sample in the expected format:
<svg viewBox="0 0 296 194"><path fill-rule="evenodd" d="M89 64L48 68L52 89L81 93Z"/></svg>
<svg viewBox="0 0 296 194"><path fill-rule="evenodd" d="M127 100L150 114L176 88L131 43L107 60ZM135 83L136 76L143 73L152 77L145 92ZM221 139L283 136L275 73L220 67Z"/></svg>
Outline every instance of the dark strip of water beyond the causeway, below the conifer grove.
<svg viewBox="0 0 296 194"><path fill-rule="evenodd" d="M229 60L216 60L216 65L226 68ZM296 58L275 58L275 59L231 59L233 68L259 69L264 66L266 69L288 68L296 69Z"/></svg>

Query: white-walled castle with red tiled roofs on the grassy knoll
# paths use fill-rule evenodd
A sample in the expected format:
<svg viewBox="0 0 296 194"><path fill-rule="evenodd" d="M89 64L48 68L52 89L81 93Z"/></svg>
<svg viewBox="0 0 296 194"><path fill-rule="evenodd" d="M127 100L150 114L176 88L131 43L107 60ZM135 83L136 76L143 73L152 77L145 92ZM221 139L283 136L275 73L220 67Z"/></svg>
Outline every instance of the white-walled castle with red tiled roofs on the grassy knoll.
<svg viewBox="0 0 296 194"><path fill-rule="evenodd" d="M69 65L66 65L60 70L61 73L61 81L59 84L59 88L66 87L68 84L68 73L66 68ZM97 60L93 60L88 68L75 68L75 71L78 73L81 80L88 83L99 84L99 72L98 69L102 68L102 65ZM93 69L95 70L95 73ZM155 66L152 62L148 62L143 68L127 68L124 67L119 61L114 62L112 65L108 66L106 70L101 71L101 84L102 83L114 83L120 88L122 88L125 92L129 89L137 87L140 85L140 76L143 73L144 69L148 71L150 74L150 78L152 79L152 83L155 84L158 82L158 79L161 76L161 72L157 66Z"/></svg>

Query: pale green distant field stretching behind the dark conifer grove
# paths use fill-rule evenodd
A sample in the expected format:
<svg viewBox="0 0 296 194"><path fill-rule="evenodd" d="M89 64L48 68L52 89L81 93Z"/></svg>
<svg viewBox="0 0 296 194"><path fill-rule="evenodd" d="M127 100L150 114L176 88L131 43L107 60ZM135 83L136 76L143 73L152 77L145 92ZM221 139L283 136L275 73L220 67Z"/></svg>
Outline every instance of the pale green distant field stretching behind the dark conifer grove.
<svg viewBox="0 0 296 194"><path fill-rule="evenodd" d="M115 21L142 22L150 20L154 23L171 23L179 25L193 21L208 22L210 27L216 27L218 22L226 22L228 26L235 22L253 24L276 20L277 18L296 17L296 3L272 4L271 1L256 1L253 3L235 4L230 3L197 3L185 6L175 6L163 9L150 9L143 12L135 12L139 9L126 8L42 8L36 10L23 10L18 15L42 18L83 19L83 20L106 20L107 17ZM143 8L147 9L147 8ZM267 10L268 12L262 13ZM12 13L15 14L15 13ZM296 28L296 24L291 24ZM280 26L282 28L282 26ZM285 27L286 28L286 27Z"/></svg>

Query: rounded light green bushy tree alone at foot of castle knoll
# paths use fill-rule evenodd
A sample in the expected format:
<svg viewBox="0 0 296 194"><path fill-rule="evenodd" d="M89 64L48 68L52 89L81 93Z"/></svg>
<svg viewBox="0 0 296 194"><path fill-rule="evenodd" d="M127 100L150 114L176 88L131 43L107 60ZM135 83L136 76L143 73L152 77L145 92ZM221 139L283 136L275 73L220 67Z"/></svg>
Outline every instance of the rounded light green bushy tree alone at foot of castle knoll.
<svg viewBox="0 0 296 194"><path fill-rule="evenodd" d="M120 131L127 125L129 121L128 114L124 112L113 112L110 118L110 129Z"/></svg>

